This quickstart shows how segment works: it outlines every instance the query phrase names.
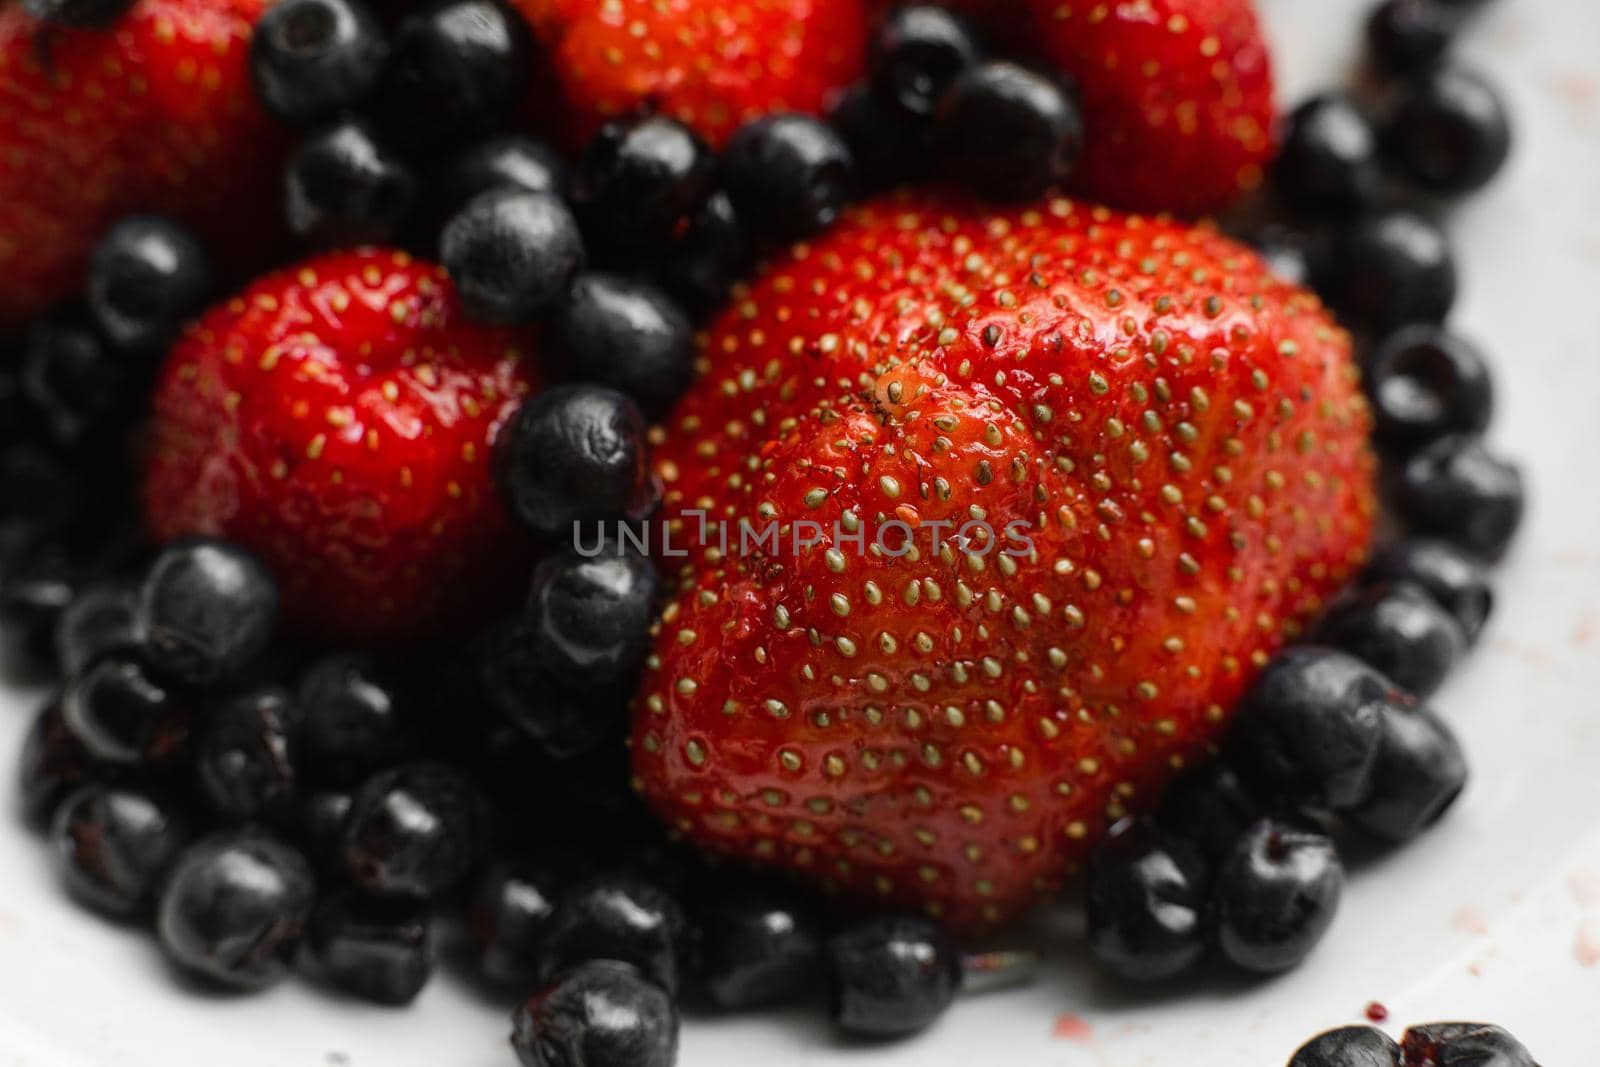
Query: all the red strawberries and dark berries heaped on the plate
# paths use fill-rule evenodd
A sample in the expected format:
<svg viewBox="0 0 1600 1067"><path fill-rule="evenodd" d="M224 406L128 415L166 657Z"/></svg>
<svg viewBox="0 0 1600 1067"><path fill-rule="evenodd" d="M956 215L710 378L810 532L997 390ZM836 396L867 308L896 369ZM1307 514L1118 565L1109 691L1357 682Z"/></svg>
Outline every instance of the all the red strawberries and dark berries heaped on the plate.
<svg viewBox="0 0 1600 1067"><path fill-rule="evenodd" d="M22 803L182 968L405 1005L461 923L530 1067L666 1067L680 1005L816 989L899 1037L1022 976L957 934L1080 872L1122 979L1293 968L1339 837L1466 785L1426 701L1523 486L1443 326L1434 206L1510 144L1461 5L1382 3L1382 99L1304 104L1270 173L1245 0L1160 37L1043 0L22 6L0 624L59 681ZM189 195L242 166L275 195ZM1256 186L1259 256L1056 192ZM1464 1024L1403 1054L1293 1064L1528 1062Z"/></svg>

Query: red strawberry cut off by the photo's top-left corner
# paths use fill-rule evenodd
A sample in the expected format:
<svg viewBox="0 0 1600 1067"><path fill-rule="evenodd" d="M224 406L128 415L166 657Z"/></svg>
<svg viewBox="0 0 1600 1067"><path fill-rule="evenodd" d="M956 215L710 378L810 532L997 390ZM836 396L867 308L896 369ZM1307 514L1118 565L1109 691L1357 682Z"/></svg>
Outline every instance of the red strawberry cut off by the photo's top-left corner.
<svg viewBox="0 0 1600 1067"><path fill-rule="evenodd" d="M262 248L286 146L250 83L269 2L138 0L106 30L0 6L0 330L70 298L130 211L176 214L224 254Z"/></svg>

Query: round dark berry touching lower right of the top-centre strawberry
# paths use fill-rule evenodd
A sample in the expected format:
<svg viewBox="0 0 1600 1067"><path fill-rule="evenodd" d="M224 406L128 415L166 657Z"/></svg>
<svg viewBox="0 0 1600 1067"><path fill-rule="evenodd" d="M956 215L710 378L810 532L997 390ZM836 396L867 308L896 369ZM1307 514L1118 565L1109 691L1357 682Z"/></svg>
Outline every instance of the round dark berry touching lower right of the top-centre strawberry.
<svg viewBox="0 0 1600 1067"><path fill-rule="evenodd" d="M739 218L779 242L814 237L838 221L854 166L845 139L810 115L757 118L722 152L722 181Z"/></svg>

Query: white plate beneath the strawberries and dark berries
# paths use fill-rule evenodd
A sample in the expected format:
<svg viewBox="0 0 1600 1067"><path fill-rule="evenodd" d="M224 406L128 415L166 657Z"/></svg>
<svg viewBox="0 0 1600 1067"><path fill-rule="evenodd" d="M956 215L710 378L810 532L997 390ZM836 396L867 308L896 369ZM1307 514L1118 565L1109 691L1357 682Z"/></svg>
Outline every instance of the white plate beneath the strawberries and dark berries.
<svg viewBox="0 0 1600 1067"><path fill-rule="evenodd" d="M1333 83L1366 0L1266 0L1283 98ZM1034 987L963 1001L926 1037L832 1043L805 1014L691 1022L686 1067L789 1064L1274 1065L1382 1001L1400 1022L1486 1017L1547 1067L1595 1062L1600 1005L1600 5L1499 0L1466 51L1507 88L1509 174L1453 222L1456 323L1499 366L1498 442L1533 510L1501 613L1438 705L1475 781L1424 841L1362 862L1338 925L1294 974L1158 1000L1096 982L1070 929ZM22 694L0 694L0 768ZM1032 936L1032 934L1029 934ZM155 945L56 891L43 848L0 822L0 1067L507 1067L507 1005L437 981L411 1011L290 982L179 990Z"/></svg>

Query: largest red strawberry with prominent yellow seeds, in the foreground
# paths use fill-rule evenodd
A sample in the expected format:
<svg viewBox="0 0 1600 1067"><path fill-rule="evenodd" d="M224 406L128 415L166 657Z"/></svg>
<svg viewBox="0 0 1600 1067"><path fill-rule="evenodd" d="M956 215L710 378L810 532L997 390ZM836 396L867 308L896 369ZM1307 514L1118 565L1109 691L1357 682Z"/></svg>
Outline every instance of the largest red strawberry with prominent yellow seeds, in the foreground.
<svg viewBox="0 0 1600 1067"><path fill-rule="evenodd" d="M878 202L704 357L656 458L694 549L638 784L702 846L958 926L1149 805L1366 550L1349 339L1211 229Z"/></svg>

